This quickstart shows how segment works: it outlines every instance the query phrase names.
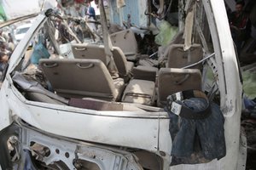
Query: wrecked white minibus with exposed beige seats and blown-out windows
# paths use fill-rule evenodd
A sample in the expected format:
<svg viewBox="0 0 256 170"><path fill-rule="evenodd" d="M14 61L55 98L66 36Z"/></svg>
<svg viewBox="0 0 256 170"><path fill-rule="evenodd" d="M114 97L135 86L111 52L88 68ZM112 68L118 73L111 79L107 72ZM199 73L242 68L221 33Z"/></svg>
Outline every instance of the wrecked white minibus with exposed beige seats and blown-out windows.
<svg viewBox="0 0 256 170"><path fill-rule="evenodd" d="M224 1L177 2L183 38L164 60L137 54L131 29L109 35L105 17L102 43L61 54L63 18L38 14L3 71L1 169L245 169Z"/></svg>

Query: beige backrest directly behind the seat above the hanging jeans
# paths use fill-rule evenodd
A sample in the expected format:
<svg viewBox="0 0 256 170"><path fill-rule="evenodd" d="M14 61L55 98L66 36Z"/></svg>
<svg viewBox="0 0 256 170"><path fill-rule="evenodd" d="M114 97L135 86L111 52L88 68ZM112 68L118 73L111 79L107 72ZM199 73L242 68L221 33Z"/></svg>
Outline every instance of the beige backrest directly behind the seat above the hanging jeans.
<svg viewBox="0 0 256 170"><path fill-rule="evenodd" d="M183 44L172 44L167 48L167 68L183 68L194 64L203 58L201 44L193 44L189 50L183 50ZM191 68L201 69L202 65L195 65Z"/></svg>

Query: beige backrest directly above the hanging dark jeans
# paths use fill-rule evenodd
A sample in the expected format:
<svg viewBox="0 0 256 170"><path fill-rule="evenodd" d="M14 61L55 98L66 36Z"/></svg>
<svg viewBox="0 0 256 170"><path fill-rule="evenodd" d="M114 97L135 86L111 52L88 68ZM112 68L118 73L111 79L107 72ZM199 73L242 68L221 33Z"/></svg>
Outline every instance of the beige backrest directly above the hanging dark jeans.
<svg viewBox="0 0 256 170"><path fill-rule="evenodd" d="M158 77L158 105L166 105L168 95L189 89L201 90L198 69L161 68Z"/></svg>

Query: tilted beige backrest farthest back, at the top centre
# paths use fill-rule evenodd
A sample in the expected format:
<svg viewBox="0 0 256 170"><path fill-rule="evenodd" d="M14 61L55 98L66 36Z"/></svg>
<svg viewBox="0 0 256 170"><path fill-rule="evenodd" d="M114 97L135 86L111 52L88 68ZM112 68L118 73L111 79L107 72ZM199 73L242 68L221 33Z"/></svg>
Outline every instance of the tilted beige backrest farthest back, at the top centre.
<svg viewBox="0 0 256 170"><path fill-rule="evenodd" d="M137 40L130 29L115 32L110 35L110 39L113 46L121 48L125 55L137 54Z"/></svg>

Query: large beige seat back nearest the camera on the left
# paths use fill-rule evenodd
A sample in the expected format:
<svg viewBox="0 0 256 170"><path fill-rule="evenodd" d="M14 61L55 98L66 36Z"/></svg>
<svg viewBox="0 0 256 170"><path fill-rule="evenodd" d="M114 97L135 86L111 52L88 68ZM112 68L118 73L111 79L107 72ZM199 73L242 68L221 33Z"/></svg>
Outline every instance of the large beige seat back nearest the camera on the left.
<svg viewBox="0 0 256 170"><path fill-rule="evenodd" d="M113 81L99 59L40 59L39 65L56 94L66 98L119 100L124 89L124 80Z"/></svg>

